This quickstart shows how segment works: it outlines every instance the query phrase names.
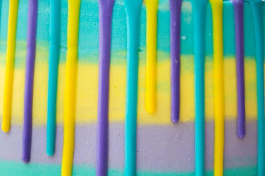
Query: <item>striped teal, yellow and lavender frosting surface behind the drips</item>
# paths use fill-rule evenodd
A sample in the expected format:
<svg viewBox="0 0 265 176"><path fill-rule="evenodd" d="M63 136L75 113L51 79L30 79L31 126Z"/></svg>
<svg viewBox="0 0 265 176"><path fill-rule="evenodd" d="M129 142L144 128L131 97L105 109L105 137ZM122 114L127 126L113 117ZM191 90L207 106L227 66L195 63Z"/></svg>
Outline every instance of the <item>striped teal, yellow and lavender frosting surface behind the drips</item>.
<svg viewBox="0 0 265 176"><path fill-rule="evenodd" d="M36 60L33 91L31 161L21 162L25 86L28 1L20 0L13 89L12 126L0 133L1 175L60 175L63 145L63 111L67 40L67 1L61 5L61 48L58 74L57 135L54 156L46 155L49 1L38 1ZM4 85L9 1L2 0L0 24L0 85ZM263 5L263 10L265 7ZM253 17L244 4L246 136L237 137L235 23L231 2L224 2L225 175L257 174L257 103ZM210 4L206 12L205 57L205 173L213 175L214 93L213 24ZM73 175L95 175L98 87L98 2L82 0L80 9L76 131ZM170 118L170 8L161 0L157 18L157 108L145 110L146 8L140 24L137 175L194 175L194 58L190 1L181 10L180 122ZM265 24L265 18L263 18ZM124 174L124 121L126 92L126 16L124 3L114 5L110 71L109 175ZM263 28L265 29L265 27ZM4 86L0 86L0 120Z"/></svg>

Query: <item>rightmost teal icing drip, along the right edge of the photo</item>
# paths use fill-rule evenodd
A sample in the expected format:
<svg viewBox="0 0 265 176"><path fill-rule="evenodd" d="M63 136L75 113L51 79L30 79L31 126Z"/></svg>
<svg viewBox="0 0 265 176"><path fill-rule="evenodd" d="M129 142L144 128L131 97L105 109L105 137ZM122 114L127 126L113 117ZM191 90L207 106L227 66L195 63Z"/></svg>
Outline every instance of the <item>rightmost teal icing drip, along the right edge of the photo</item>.
<svg viewBox="0 0 265 176"><path fill-rule="evenodd" d="M258 175L265 175L265 131L264 131L264 44L262 28L263 2L250 0L254 19L257 75L257 167Z"/></svg>

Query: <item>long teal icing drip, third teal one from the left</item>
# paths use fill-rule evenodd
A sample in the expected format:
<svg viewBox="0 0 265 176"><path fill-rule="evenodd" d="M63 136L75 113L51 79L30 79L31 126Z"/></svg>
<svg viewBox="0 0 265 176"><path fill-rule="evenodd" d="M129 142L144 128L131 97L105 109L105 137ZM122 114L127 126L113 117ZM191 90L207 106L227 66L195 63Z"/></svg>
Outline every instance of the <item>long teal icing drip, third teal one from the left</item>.
<svg viewBox="0 0 265 176"><path fill-rule="evenodd" d="M195 71L195 173L204 175L204 61L206 0L192 1Z"/></svg>

